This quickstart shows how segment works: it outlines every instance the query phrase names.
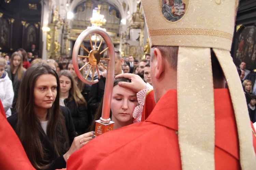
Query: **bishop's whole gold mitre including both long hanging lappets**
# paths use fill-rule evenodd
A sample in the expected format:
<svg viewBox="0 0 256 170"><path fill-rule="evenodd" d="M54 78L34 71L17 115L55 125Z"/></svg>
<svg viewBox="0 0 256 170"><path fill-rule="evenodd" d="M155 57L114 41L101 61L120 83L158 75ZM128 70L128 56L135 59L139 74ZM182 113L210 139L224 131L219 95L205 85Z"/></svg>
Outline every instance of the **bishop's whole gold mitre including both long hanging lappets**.
<svg viewBox="0 0 256 170"><path fill-rule="evenodd" d="M238 0L142 0L142 6L150 46L179 46L177 102L182 168L215 169L212 48L229 87L241 168L254 169L250 119L229 52Z"/></svg>

